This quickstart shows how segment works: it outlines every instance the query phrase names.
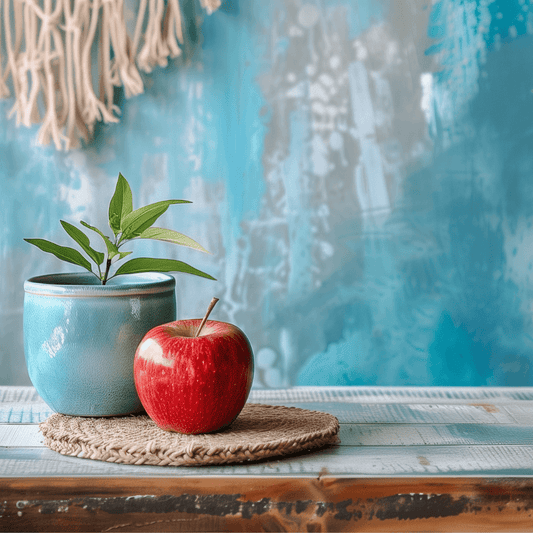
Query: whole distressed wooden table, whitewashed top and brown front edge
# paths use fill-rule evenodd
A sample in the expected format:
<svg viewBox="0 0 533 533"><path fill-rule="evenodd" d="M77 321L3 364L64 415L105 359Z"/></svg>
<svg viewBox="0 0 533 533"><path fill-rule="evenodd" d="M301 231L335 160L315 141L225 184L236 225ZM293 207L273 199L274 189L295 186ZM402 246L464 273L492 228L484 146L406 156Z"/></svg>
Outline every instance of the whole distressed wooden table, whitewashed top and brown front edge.
<svg viewBox="0 0 533 533"><path fill-rule="evenodd" d="M340 445L256 464L63 457L29 387L0 387L0 531L532 531L533 388L294 388Z"/></svg>

